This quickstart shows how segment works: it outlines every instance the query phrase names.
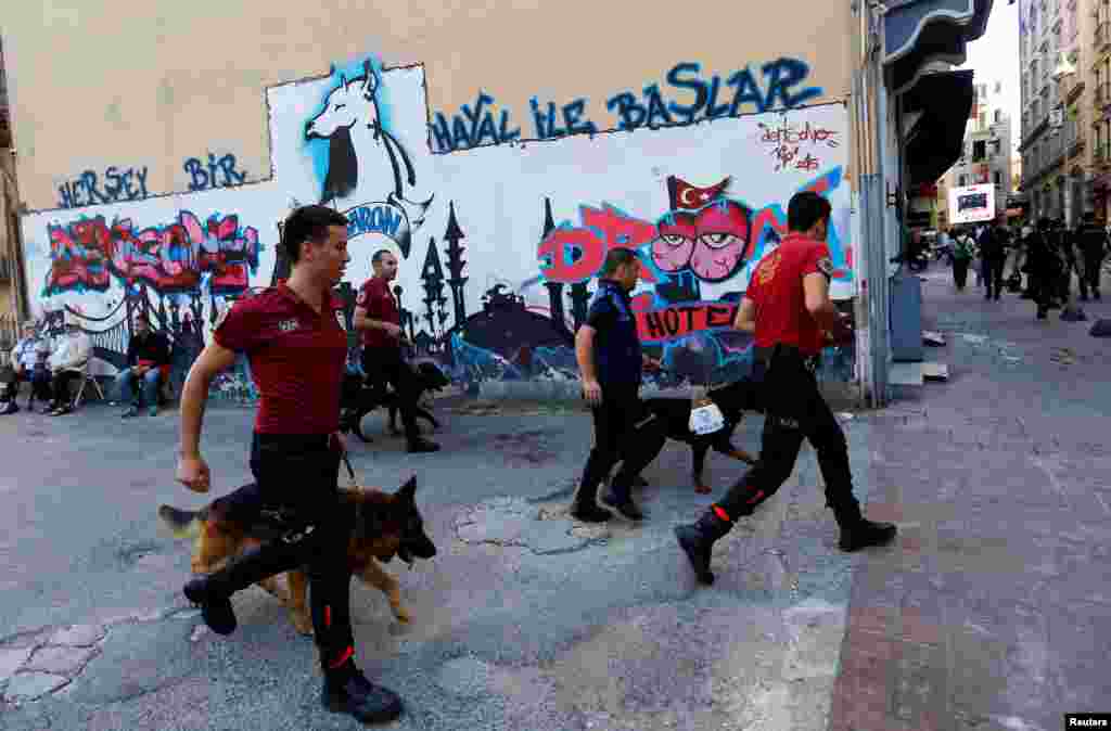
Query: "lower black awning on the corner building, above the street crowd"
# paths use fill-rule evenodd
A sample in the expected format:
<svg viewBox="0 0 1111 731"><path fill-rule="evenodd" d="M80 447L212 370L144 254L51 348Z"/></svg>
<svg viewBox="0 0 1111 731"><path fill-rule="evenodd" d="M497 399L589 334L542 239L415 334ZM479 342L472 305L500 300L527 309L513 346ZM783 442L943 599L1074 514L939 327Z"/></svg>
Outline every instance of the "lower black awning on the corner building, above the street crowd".
<svg viewBox="0 0 1111 731"><path fill-rule="evenodd" d="M928 73L903 94L903 111L917 113L905 137L908 186L932 184L960 159L972 111L972 73Z"/></svg>

